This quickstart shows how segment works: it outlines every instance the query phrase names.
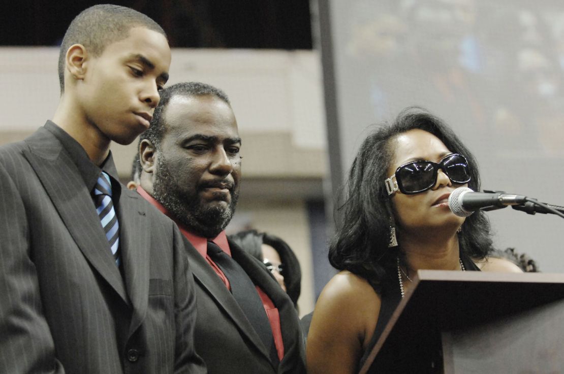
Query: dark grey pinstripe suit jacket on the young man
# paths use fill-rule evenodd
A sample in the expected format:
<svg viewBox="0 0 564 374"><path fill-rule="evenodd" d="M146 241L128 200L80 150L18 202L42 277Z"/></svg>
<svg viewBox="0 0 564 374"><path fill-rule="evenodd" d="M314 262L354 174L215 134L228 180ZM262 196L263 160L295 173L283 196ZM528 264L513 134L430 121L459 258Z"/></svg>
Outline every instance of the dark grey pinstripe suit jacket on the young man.
<svg viewBox="0 0 564 374"><path fill-rule="evenodd" d="M123 274L53 133L0 147L0 373L205 372L182 236L121 189Z"/></svg>

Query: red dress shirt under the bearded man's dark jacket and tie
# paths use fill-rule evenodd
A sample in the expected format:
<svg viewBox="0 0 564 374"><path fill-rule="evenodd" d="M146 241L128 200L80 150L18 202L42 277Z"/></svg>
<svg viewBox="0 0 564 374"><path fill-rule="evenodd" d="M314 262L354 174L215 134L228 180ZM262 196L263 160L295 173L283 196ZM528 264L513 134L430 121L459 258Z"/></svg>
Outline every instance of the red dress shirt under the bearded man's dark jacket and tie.
<svg viewBox="0 0 564 374"><path fill-rule="evenodd" d="M208 261L208 264L210 264L211 268L214 269L218 277L221 278L223 284L225 284L228 290L231 291L229 280L227 279L225 274L223 274L223 271L219 269L219 266L217 266L215 262L213 262L208 256L208 239L199 237L188 231L186 226L175 220L174 217L171 216L170 213L166 210L166 208L162 206L161 203L156 201L151 195L149 195L141 186L138 186L137 192L178 225L178 229L180 229L180 232L184 235L184 237L186 237L188 241L192 243L194 248L196 248L196 251L198 251L200 255L202 255L202 257L206 259L206 261ZM223 252L227 253L227 255L231 257L231 249L229 248L229 243L227 243L227 235L225 234L225 231L221 231L221 233L219 233L219 235L217 235L217 237L215 237L211 241L217 244L219 248L223 250ZM270 321L270 328L272 329L272 337L274 337L274 344L278 353L278 359L282 360L282 358L284 357L284 342L282 340L282 330L280 328L280 314L278 312L278 308L276 308L274 302L272 302L270 297L266 295L265 291L262 291L262 289L256 285L255 288L257 288L258 295L261 297L262 305L265 307L266 315L268 317L268 320Z"/></svg>

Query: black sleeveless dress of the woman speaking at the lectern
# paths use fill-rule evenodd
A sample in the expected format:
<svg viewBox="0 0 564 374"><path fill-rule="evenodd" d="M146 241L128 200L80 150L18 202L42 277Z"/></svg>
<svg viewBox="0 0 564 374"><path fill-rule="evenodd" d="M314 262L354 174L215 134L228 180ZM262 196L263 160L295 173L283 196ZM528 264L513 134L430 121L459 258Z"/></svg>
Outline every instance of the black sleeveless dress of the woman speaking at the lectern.
<svg viewBox="0 0 564 374"><path fill-rule="evenodd" d="M480 271L478 266L474 264L474 261L472 261L470 257L463 255L461 256L461 260L462 264L464 264L464 269L466 269L467 271ZM399 289L399 279L397 277L397 274L394 275L395 277L390 277L390 279L388 279L388 281L384 283L384 285L382 286L382 291L379 292L382 302L380 306L380 313L378 313L378 322L376 323L376 328L374 329L372 339L370 340L367 349L364 351L363 357L360 359L359 368L363 367L364 363L368 359L368 355L371 353L372 349L378 342L378 339L384 332L384 328L390 320L391 315L394 313L395 308L398 306L399 302L402 301L402 293ZM440 349L440 347L438 349ZM374 365L372 365L368 370L368 374L385 374L387 372L387 368L376 368L374 367ZM392 370L390 372L395 371ZM421 371L420 373L427 372L433 371Z"/></svg>

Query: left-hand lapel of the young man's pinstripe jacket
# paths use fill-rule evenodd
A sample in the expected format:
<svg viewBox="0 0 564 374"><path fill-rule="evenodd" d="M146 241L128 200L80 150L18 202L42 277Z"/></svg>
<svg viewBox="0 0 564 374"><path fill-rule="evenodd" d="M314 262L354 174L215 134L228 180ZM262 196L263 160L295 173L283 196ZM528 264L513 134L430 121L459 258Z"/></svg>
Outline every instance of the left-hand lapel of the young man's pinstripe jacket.
<svg viewBox="0 0 564 374"><path fill-rule="evenodd" d="M70 235L92 267L127 303L127 294L108 240L76 165L58 140L44 128L27 140L27 158Z"/></svg>

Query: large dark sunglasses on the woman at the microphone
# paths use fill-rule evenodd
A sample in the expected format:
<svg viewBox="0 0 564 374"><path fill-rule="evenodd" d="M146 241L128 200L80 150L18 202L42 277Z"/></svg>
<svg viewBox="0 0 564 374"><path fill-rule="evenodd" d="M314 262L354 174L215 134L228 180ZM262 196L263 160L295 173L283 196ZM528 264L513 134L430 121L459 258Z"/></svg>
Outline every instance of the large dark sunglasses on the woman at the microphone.
<svg viewBox="0 0 564 374"><path fill-rule="evenodd" d="M461 154L453 153L439 163L412 161L398 167L394 175L384 181L387 193L391 195L399 189L403 194L413 195L429 190L437 184L439 169L442 169L454 184L470 181L468 160Z"/></svg>

